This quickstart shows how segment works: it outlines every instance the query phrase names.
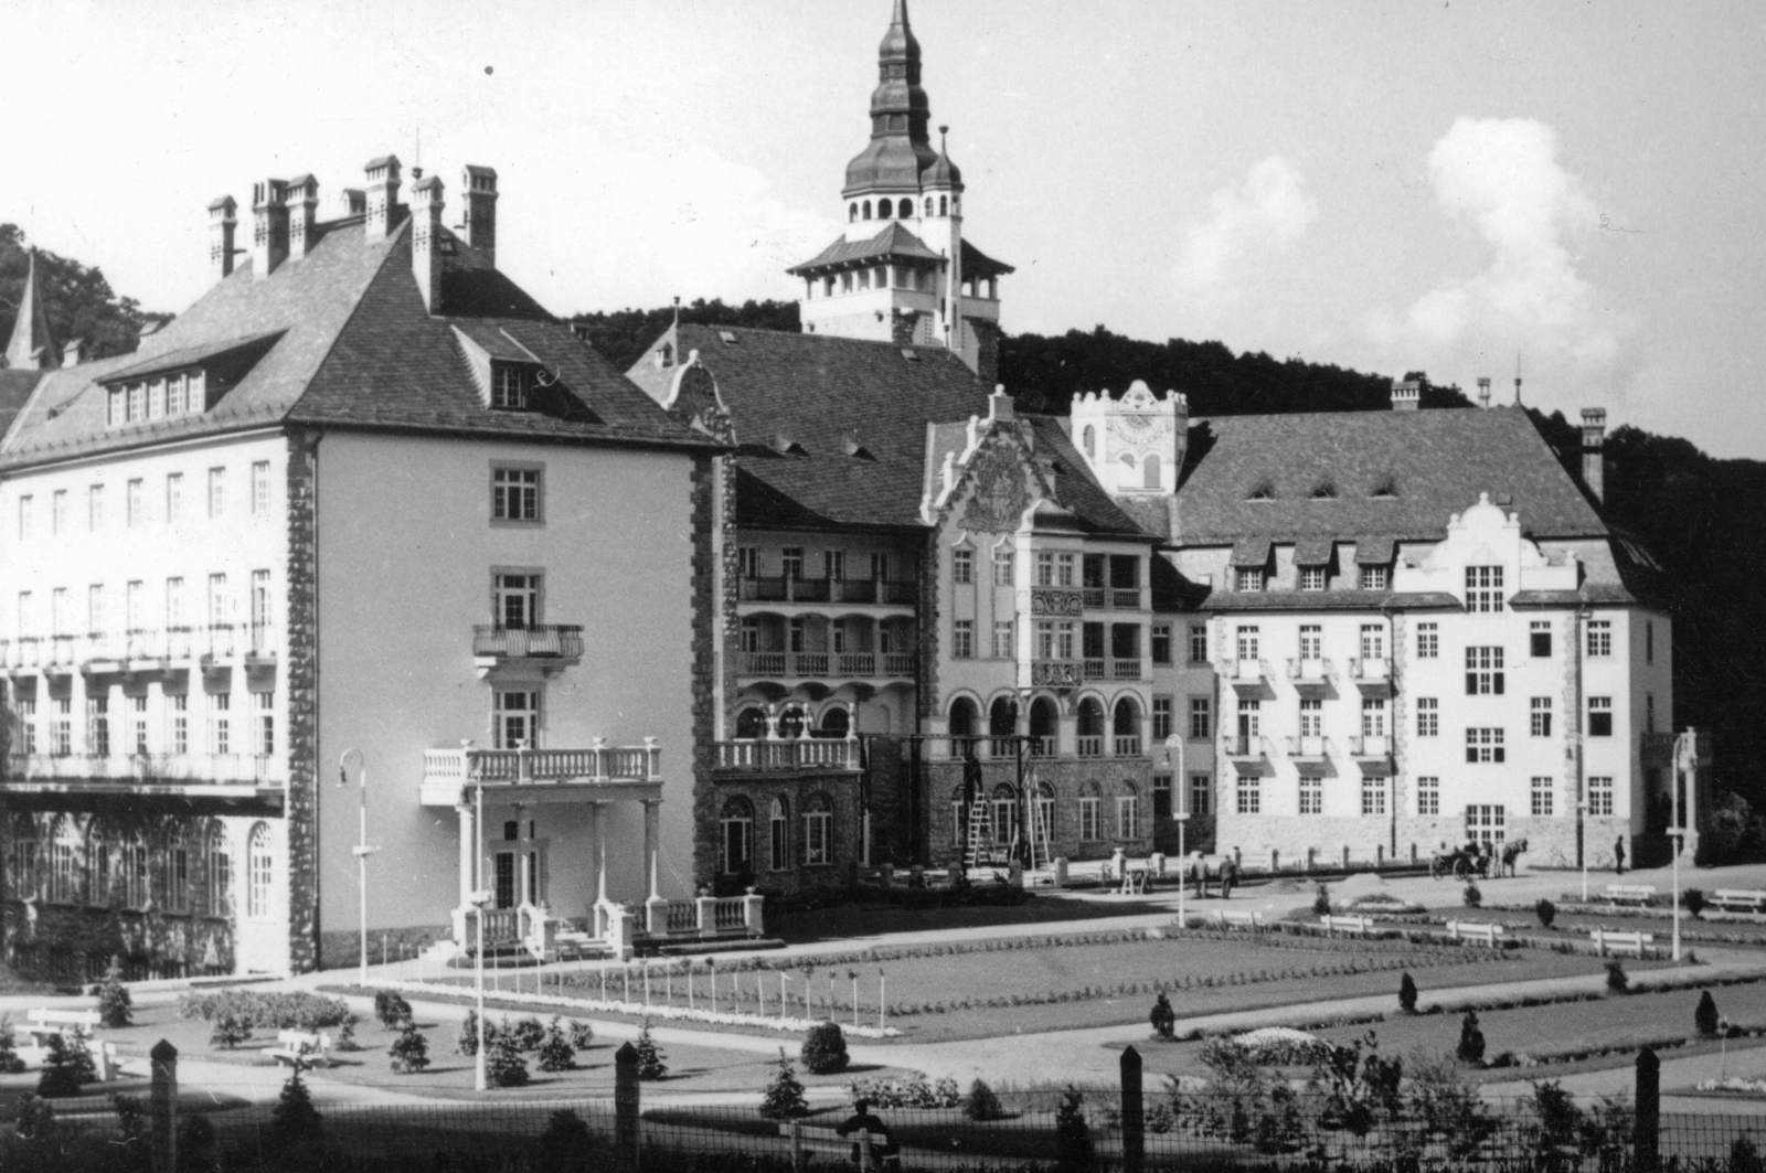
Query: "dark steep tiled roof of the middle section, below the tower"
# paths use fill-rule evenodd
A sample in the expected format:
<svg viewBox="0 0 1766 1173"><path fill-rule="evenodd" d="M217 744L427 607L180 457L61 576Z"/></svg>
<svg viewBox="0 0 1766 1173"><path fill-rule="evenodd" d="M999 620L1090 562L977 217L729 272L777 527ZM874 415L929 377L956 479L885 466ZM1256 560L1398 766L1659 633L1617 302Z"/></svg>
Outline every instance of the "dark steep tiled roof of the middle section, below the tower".
<svg viewBox="0 0 1766 1173"><path fill-rule="evenodd" d="M652 353L662 344L698 350L717 380L742 445L743 525L917 526L925 424L987 413L987 389L941 346L706 325L669 329ZM627 378L660 403L675 367L646 355ZM848 454L848 433L864 454ZM804 454L781 452L781 436Z"/></svg>

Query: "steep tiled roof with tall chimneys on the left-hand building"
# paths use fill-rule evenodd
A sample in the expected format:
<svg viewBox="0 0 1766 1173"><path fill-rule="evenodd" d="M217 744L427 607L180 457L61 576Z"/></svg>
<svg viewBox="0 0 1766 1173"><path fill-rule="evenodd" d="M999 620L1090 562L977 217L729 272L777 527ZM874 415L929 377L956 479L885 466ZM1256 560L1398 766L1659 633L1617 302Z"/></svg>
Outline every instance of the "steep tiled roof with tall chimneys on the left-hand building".
<svg viewBox="0 0 1766 1173"><path fill-rule="evenodd" d="M408 223L376 242L366 238L358 219L321 224L307 256L284 261L263 281L247 261L145 337L136 353L46 373L7 436L0 466L281 420L558 442L705 443L450 233L443 265L440 309L449 316L431 316L411 274ZM454 322L512 337L556 376L560 385L539 396L546 410L489 410ZM201 362L265 339L274 344L210 410L143 426L106 424L102 382Z"/></svg>

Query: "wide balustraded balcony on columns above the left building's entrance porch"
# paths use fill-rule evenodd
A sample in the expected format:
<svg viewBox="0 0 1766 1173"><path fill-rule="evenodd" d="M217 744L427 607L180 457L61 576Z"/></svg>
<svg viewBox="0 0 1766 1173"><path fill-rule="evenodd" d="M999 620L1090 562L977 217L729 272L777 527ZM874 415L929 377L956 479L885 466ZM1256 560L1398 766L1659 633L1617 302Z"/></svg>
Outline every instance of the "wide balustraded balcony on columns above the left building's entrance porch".
<svg viewBox="0 0 1766 1173"><path fill-rule="evenodd" d="M463 806L472 786L512 791L523 802L611 802L662 797L662 749L609 745L588 749L426 749L422 806Z"/></svg>

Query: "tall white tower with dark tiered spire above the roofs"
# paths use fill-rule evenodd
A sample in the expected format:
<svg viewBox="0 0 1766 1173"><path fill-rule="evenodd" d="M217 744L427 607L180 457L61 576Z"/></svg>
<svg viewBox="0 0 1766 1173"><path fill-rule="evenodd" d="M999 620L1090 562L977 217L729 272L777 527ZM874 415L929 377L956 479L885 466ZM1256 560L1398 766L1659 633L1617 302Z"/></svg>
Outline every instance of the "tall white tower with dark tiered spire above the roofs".
<svg viewBox="0 0 1766 1173"><path fill-rule="evenodd" d="M1000 277L1010 265L962 238L962 171L931 141L920 88L920 42L908 0L878 49L871 143L846 164L846 231L789 269L804 281L807 334L947 346L992 383L998 367Z"/></svg>

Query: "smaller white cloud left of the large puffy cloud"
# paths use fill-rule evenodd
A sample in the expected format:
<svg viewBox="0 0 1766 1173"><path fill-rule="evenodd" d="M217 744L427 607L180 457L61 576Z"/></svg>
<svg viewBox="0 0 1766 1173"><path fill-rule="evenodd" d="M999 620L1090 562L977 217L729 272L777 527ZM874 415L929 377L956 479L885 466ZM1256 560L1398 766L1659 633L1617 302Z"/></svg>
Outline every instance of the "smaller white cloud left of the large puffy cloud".
<svg viewBox="0 0 1766 1173"><path fill-rule="evenodd" d="M1178 286L1197 295L1229 293L1243 260L1287 247L1317 219L1317 205L1282 155L1257 163L1240 187L1222 187L1210 205L1208 219L1183 226L1173 270Z"/></svg>

